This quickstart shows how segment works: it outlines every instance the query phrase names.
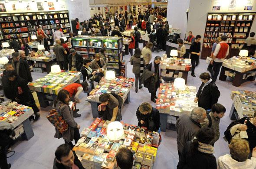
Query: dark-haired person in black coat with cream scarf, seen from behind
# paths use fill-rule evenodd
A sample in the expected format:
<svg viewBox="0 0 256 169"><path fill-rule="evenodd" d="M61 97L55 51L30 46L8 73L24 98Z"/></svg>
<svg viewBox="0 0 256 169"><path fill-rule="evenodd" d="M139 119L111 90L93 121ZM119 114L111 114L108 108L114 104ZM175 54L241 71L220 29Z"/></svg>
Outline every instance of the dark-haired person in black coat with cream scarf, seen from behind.
<svg viewBox="0 0 256 169"><path fill-rule="evenodd" d="M200 128L192 141L185 143L177 169L217 169L213 146L210 145L213 138L211 128Z"/></svg>

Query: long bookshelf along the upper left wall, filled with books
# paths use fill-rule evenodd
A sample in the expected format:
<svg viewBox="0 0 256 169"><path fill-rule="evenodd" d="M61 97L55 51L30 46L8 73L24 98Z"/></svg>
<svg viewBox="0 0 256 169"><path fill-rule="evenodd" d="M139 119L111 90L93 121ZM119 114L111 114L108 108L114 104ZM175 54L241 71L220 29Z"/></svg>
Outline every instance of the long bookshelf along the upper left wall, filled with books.
<svg viewBox="0 0 256 169"><path fill-rule="evenodd" d="M38 26L41 26L49 37L50 44L53 44L53 33L58 25L64 36L69 37L71 32L68 11L0 14L0 23L2 28L0 40L9 40L10 37L14 37L30 42L30 36L36 35Z"/></svg>

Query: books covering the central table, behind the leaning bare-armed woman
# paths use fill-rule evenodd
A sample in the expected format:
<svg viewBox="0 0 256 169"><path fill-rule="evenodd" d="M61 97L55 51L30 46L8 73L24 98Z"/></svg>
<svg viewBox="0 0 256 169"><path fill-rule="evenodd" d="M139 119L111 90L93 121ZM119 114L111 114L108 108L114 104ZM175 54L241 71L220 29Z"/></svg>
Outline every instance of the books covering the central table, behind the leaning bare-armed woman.
<svg viewBox="0 0 256 169"><path fill-rule="evenodd" d="M134 81L134 78L124 78L121 76L111 81L102 77L98 85L90 92L87 100L99 102L99 96L103 93L116 93L124 97L131 90Z"/></svg>

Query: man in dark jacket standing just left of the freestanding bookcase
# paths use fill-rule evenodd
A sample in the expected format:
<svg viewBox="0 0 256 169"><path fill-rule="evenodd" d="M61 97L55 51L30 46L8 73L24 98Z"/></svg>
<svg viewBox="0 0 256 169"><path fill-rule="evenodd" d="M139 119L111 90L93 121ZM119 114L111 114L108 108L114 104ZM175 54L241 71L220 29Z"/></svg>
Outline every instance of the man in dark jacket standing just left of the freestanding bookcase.
<svg viewBox="0 0 256 169"><path fill-rule="evenodd" d="M75 51L75 49L70 49L69 54L69 70L80 71L82 67L83 58Z"/></svg>

